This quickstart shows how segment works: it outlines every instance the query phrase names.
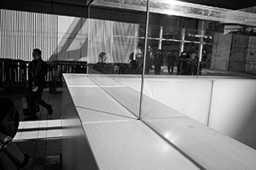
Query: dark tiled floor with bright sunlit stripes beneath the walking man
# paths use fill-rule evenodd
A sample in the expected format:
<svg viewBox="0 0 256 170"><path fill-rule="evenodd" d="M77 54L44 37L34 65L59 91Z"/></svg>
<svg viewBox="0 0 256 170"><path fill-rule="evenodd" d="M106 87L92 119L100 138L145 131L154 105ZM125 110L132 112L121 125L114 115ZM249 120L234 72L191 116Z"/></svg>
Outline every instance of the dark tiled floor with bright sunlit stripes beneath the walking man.
<svg viewBox="0 0 256 170"><path fill-rule="evenodd" d="M54 113L49 116L46 109L40 106L38 119L35 121L23 121L25 116L22 97L25 94L22 89L0 88L0 96L13 100L20 114L20 126L13 142L31 156L28 165L20 170L61 170L61 146L64 138L61 123L61 88L57 89L56 94L50 94L49 88L45 88L43 99L52 105Z"/></svg>

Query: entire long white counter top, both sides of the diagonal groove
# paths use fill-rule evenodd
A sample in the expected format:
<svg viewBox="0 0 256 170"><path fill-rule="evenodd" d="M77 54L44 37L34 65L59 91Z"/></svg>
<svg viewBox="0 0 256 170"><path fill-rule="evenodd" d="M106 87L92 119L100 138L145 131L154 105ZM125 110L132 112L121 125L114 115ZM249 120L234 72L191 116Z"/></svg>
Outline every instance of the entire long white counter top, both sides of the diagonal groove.
<svg viewBox="0 0 256 170"><path fill-rule="evenodd" d="M68 74L64 79L67 85L64 93L68 94L65 99L70 97L74 110L64 111L63 118L67 123L68 119L78 120L80 134L84 135L79 140L87 144L87 156L96 164L90 169L256 167L256 150L147 96L144 96L143 121L137 120L139 93L114 77ZM90 167L87 157L76 156L83 155L85 150L77 143L69 143L66 152L64 147L63 156L69 154L72 159L69 163L75 165L64 165L63 169Z"/></svg>

